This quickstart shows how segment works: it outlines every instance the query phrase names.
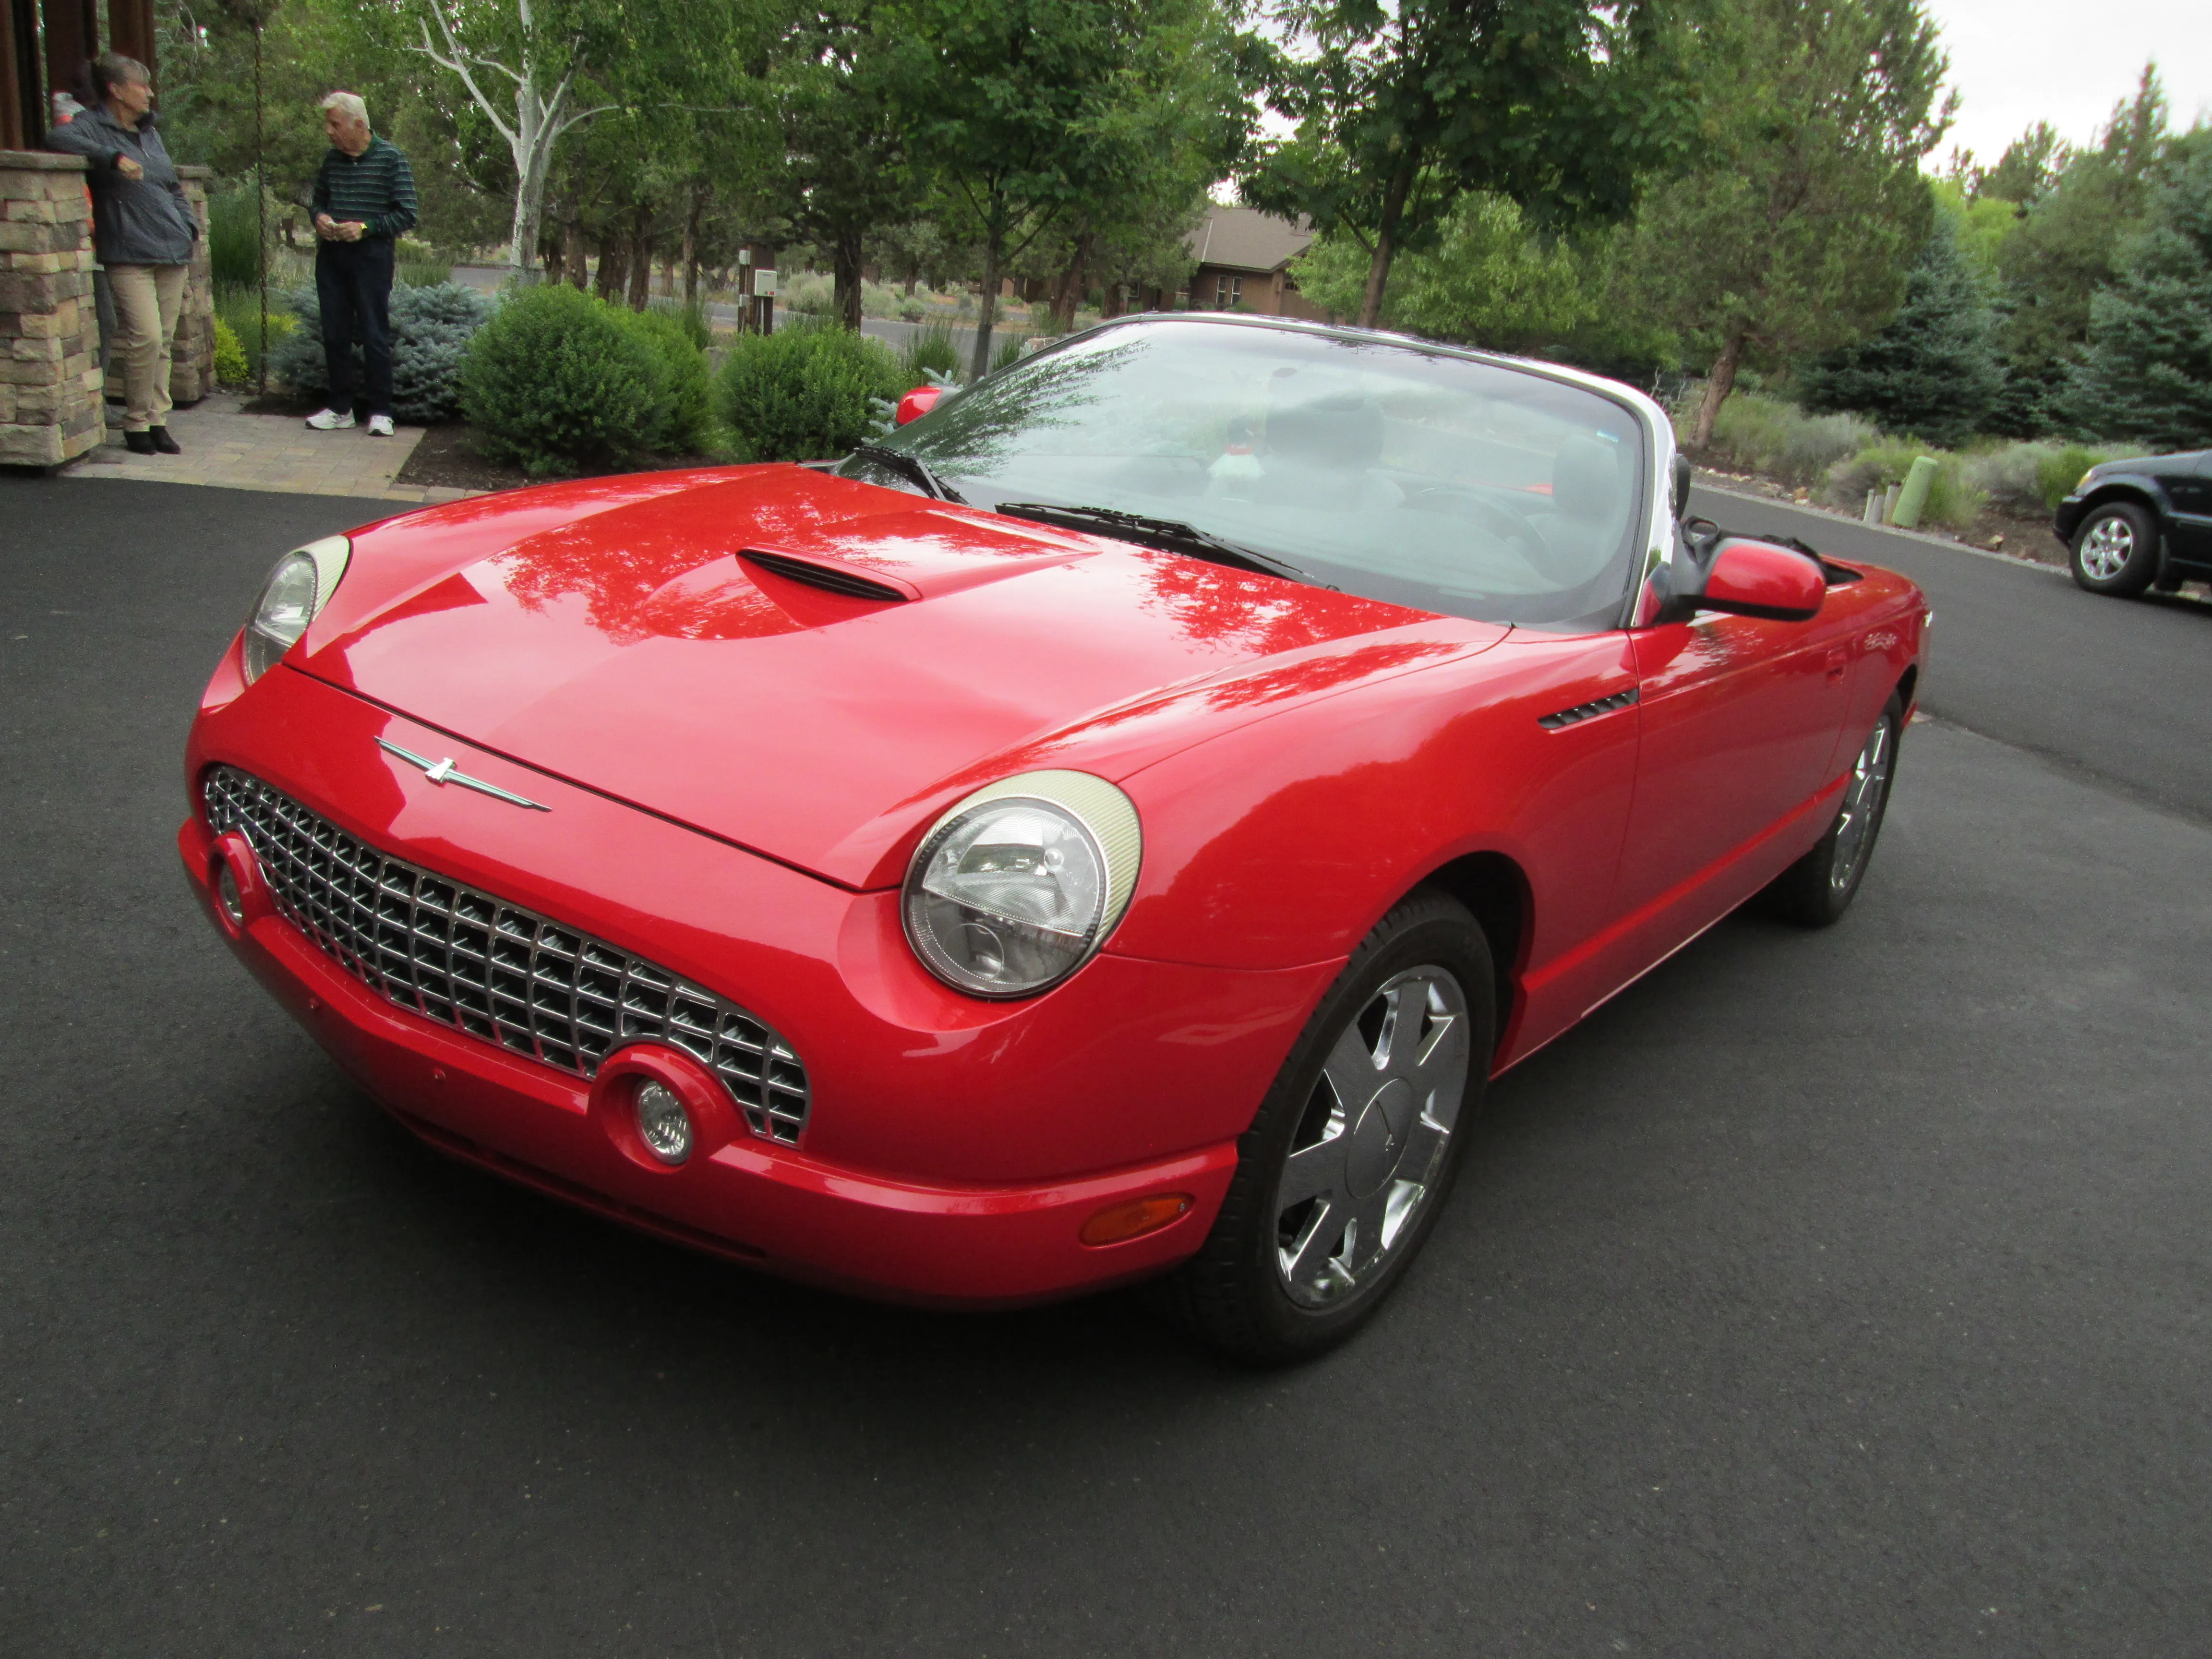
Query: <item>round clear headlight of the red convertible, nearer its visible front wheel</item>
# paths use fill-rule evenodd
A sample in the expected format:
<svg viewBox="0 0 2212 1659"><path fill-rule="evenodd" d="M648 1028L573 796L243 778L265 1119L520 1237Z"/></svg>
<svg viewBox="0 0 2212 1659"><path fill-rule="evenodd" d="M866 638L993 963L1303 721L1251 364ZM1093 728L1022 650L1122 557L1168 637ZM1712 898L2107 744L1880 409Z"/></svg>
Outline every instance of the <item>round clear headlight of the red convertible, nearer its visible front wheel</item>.
<svg viewBox="0 0 2212 1659"><path fill-rule="evenodd" d="M956 991L1026 998L1106 942L1137 887L1137 807L1088 772L1024 772L978 790L907 867L907 942Z"/></svg>

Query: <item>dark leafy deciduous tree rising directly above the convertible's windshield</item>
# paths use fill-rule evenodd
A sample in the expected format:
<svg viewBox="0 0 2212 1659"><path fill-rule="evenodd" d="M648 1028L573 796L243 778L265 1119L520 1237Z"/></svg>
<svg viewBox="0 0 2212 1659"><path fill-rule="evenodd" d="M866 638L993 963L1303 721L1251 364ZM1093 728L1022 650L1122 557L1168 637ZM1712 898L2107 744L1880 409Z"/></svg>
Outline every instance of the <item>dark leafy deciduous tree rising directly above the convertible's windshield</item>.
<svg viewBox="0 0 2212 1659"><path fill-rule="evenodd" d="M1542 228L1621 219L1679 144L1674 31L1646 0L1281 0L1270 104L1296 135L1243 199L1367 250L1358 319L1391 261L1433 246L1469 190Z"/></svg>

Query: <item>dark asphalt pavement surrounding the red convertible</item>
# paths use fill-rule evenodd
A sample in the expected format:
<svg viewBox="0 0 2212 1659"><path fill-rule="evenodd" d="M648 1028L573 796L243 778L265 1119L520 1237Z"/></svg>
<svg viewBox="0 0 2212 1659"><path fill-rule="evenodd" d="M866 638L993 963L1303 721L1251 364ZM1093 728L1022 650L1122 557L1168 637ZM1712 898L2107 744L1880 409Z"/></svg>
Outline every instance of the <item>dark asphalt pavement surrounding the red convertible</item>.
<svg viewBox="0 0 2212 1659"><path fill-rule="evenodd" d="M208 664L361 507L0 504L0 1652L2203 1650L2212 834L1969 644L2126 619L2181 686L2197 617L1900 544L2062 765L1916 730L1843 927L1732 920L1511 1075L1398 1305L1254 1376L416 1148L170 867Z"/></svg>

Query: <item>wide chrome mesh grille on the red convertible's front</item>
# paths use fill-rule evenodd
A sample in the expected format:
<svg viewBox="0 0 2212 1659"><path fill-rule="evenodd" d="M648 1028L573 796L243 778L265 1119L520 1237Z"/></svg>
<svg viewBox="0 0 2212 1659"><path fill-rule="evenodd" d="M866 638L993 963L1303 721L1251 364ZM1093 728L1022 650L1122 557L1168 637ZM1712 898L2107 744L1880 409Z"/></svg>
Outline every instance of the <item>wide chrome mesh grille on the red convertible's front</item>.
<svg viewBox="0 0 2212 1659"><path fill-rule="evenodd" d="M201 783L239 830L276 909L403 1009L593 1077L611 1048L666 1042L730 1091L754 1135L792 1146L807 1073L774 1026L664 967L520 905L376 852L237 768Z"/></svg>

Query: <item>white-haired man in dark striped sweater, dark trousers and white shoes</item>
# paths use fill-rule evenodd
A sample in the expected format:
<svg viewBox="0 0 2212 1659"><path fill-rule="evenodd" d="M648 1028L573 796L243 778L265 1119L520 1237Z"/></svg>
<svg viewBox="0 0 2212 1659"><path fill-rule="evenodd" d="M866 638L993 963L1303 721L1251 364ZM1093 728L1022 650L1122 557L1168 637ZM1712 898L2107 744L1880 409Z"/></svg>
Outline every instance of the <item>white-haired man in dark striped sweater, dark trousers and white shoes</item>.
<svg viewBox="0 0 2212 1659"><path fill-rule="evenodd" d="M323 100L330 153L314 175L314 299L323 310L330 407L307 416L316 431L354 425L354 336L369 367L369 436L392 436L392 246L414 226L414 168L389 139L369 133L358 93Z"/></svg>

